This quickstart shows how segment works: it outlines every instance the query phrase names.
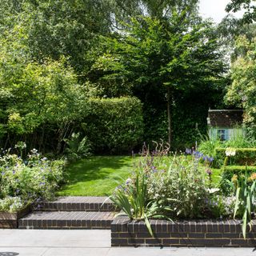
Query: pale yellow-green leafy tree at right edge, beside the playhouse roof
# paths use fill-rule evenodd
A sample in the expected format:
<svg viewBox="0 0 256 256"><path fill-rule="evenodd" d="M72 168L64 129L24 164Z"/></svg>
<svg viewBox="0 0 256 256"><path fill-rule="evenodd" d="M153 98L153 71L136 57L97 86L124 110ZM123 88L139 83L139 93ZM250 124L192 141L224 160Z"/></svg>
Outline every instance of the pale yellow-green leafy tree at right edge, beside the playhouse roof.
<svg viewBox="0 0 256 256"><path fill-rule="evenodd" d="M231 66L233 80L226 94L226 102L245 110L244 121L256 122L256 37L250 42L245 36L236 42L238 58Z"/></svg>

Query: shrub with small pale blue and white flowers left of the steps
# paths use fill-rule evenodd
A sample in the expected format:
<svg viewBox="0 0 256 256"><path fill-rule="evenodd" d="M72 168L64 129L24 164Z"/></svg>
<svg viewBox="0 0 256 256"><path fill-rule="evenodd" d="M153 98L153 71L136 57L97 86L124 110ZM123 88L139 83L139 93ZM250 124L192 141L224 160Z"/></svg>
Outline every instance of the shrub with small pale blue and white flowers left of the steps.
<svg viewBox="0 0 256 256"><path fill-rule="evenodd" d="M38 199L49 199L63 179L63 160L50 161L38 150L31 150L26 160L6 150L0 156L0 199L2 208L24 206ZM19 199L18 199L19 198ZM17 204L21 200L22 204ZM10 203L13 202L13 203ZM14 203L15 202L15 203ZM7 206L10 206L9 209Z"/></svg>

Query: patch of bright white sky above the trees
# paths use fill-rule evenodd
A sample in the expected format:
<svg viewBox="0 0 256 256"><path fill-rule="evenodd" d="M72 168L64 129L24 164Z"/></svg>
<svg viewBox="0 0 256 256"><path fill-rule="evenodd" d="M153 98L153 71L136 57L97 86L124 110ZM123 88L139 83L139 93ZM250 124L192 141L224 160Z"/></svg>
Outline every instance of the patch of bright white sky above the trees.
<svg viewBox="0 0 256 256"><path fill-rule="evenodd" d="M213 18L214 22L221 22L226 16L226 5L230 0L200 0L199 12L204 18ZM242 11L234 14L236 18L242 17Z"/></svg>

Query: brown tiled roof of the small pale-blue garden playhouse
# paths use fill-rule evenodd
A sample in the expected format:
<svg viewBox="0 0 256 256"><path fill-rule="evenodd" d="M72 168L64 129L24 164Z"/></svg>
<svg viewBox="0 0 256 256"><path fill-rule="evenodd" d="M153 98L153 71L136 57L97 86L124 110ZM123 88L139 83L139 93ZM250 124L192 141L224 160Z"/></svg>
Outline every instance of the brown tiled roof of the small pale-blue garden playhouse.
<svg viewBox="0 0 256 256"><path fill-rule="evenodd" d="M208 126L230 128L242 125L242 110L209 110Z"/></svg>

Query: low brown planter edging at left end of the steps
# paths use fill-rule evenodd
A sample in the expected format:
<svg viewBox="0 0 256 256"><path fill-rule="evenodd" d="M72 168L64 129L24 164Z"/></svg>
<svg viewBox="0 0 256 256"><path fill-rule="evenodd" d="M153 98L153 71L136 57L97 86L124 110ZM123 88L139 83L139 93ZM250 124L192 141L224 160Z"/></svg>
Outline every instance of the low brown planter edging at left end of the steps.
<svg viewBox="0 0 256 256"><path fill-rule="evenodd" d="M22 210L18 210L14 213L0 211L0 228L1 229L16 229L18 228L18 219L22 218L26 214L29 214L31 210L30 205L26 206Z"/></svg>

